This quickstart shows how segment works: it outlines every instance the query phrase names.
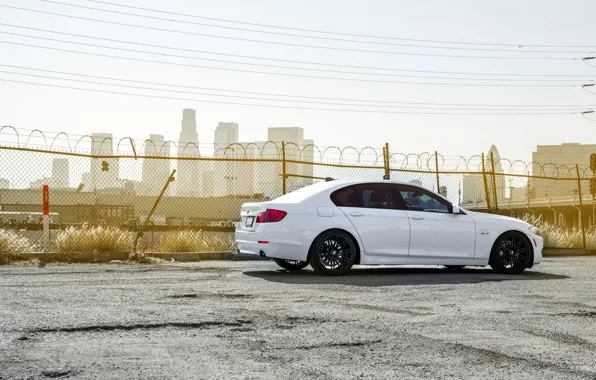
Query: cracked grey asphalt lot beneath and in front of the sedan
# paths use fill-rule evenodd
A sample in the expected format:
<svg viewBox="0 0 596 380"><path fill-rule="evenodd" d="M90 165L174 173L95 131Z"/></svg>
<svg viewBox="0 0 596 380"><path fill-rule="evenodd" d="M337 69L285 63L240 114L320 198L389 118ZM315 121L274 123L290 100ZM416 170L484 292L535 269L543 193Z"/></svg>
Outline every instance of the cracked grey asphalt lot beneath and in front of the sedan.
<svg viewBox="0 0 596 380"><path fill-rule="evenodd" d="M596 379L596 258L0 267L0 379Z"/></svg>

